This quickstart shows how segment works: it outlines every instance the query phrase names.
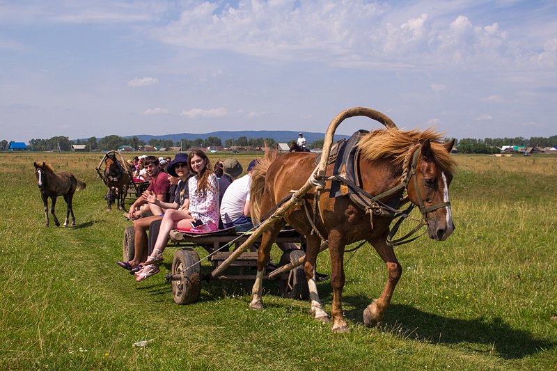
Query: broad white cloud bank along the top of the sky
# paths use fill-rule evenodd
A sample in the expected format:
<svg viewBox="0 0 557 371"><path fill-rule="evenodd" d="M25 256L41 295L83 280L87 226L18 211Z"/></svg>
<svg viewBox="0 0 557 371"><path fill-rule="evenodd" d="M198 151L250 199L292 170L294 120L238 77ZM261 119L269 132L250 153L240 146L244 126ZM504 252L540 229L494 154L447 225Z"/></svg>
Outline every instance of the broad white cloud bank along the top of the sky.
<svg viewBox="0 0 557 371"><path fill-rule="evenodd" d="M435 17L419 9L428 9ZM416 3L393 6L363 0L193 2L179 19L152 35L196 49L228 50L274 60L327 61L355 68L450 68L515 64L540 58L557 64L554 43L517 48L498 22L473 24L463 5ZM477 17L476 17L477 18ZM476 19L474 18L474 19ZM496 17L488 17L496 19ZM545 53L545 54L544 54ZM547 55L549 53L549 56Z"/></svg>

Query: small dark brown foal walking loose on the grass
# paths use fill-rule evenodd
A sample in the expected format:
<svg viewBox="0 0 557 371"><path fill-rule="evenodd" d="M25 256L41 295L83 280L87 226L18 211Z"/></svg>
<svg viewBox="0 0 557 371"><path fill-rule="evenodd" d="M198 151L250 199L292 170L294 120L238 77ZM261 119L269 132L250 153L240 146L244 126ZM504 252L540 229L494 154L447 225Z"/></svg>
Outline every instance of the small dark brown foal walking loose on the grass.
<svg viewBox="0 0 557 371"><path fill-rule="evenodd" d="M45 205L45 227L48 227L48 198L51 200L50 212L54 218L54 223L56 226L60 226L56 214L54 214L54 207L56 207L56 198L58 196L64 196L65 203L68 205L68 211L65 214L64 226L68 226L68 219L70 218L70 213L72 214L72 226L75 226L75 216L74 209L72 207L72 199L74 193L78 189L85 189L87 184L81 182L81 180L74 177L72 173L54 173L52 168L45 164L38 165L36 162L33 163L35 166L35 176L37 177L37 187L40 190L40 196L42 197L42 203Z"/></svg>

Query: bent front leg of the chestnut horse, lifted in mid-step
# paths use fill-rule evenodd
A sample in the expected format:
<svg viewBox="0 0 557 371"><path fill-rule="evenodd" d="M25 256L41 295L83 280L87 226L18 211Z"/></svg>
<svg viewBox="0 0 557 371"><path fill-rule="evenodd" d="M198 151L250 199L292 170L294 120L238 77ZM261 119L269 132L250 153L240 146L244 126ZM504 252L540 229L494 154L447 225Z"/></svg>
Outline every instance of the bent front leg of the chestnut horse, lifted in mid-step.
<svg viewBox="0 0 557 371"><path fill-rule="evenodd" d="M385 262L389 276L381 296L372 301L370 305L363 310L363 323L368 327L375 326L377 322L382 319L386 308L389 308L389 303L391 303L391 297L393 297L396 284L398 280L400 280L400 276L402 276L402 267L400 267L395 256L395 251L391 246L387 246L386 244L386 235L370 241L370 244L372 244Z"/></svg>

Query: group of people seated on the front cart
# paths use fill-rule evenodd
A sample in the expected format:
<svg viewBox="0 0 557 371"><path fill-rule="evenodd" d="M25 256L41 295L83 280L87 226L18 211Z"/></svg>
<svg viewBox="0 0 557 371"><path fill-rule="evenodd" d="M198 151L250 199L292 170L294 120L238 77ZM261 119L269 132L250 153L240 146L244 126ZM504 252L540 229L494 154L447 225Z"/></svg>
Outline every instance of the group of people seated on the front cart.
<svg viewBox="0 0 557 371"><path fill-rule="evenodd" d="M244 169L236 159L218 161L213 171L202 150L189 155L178 153L166 164L166 173L155 156L138 158L137 162L145 169L150 184L128 212L134 221L134 258L117 262L134 274L136 281L159 272L168 232L173 229L213 232L234 226L253 228L249 187L255 159L239 179Z"/></svg>

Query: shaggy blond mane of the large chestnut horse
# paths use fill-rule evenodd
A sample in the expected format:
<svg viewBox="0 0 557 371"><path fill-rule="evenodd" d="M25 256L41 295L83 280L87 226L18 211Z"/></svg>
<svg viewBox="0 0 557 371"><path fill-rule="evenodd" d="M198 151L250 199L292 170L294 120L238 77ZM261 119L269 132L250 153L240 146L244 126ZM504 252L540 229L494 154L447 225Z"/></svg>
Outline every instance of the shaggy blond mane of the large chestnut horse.
<svg viewBox="0 0 557 371"><path fill-rule="evenodd" d="M409 131L399 129L377 129L362 137L358 143L363 157L369 160L392 157L395 164L407 166L409 157L416 145L429 140L431 150L438 166L452 174L456 162L447 152L443 143L443 134L429 128L423 132L418 129Z"/></svg>

